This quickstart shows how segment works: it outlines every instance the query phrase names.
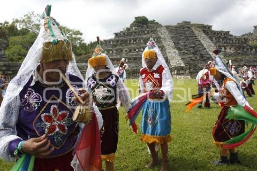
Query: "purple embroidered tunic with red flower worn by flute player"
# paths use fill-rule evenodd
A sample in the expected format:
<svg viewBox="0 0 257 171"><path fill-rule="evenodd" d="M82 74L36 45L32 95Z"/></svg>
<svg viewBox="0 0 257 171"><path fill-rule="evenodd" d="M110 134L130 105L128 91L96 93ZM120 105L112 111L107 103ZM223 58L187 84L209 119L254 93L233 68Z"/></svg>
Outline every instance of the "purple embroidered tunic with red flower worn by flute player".
<svg viewBox="0 0 257 171"><path fill-rule="evenodd" d="M61 156L73 149L79 133L77 123L72 120L77 102L65 83L57 88L47 87L36 81L30 86L32 78L19 94L21 105L16 124L18 136L28 140L47 134L51 147L54 147L49 157ZM69 75L68 78L78 92L82 87L82 80L73 75ZM11 155L20 141L16 139L9 143Z"/></svg>

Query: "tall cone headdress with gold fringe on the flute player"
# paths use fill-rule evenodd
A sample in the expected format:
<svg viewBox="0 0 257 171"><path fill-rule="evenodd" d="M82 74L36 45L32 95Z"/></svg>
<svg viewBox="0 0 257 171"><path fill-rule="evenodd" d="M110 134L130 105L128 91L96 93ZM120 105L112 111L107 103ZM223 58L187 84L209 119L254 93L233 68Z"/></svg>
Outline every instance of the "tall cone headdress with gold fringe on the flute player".
<svg viewBox="0 0 257 171"><path fill-rule="evenodd" d="M47 5L42 15L44 18L44 44L41 62L72 60L70 40L63 33L60 24L50 17L51 7L51 5Z"/></svg>

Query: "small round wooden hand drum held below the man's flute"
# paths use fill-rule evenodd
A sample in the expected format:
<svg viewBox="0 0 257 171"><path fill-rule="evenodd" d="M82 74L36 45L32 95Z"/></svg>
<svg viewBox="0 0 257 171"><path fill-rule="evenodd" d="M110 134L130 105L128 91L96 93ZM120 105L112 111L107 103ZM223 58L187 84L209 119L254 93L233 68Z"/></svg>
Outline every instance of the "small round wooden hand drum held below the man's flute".
<svg viewBox="0 0 257 171"><path fill-rule="evenodd" d="M73 113L72 120L82 122L87 125L91 121L92 115L92 107L78 105Z"/></svg>

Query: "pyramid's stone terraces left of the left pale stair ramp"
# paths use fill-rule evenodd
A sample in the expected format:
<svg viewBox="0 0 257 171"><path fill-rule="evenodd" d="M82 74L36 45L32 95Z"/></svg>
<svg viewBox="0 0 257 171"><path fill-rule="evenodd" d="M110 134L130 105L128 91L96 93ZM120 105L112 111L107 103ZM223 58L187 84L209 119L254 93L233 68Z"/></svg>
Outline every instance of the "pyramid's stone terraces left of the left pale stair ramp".
<svg viewBox="0 0 257 171"><path fill-rule="evenodd" d="M165 47L158 35L158 27L160 26L154 24L145 27L131 27L129 31L114 33L113 39L104 40L104 50L113 65L118 67L120 60L124 57L125 63L129 66L126 70L127 77L139 78L139 71L142 68L142 53L151 35L167 61Z"/></svg>

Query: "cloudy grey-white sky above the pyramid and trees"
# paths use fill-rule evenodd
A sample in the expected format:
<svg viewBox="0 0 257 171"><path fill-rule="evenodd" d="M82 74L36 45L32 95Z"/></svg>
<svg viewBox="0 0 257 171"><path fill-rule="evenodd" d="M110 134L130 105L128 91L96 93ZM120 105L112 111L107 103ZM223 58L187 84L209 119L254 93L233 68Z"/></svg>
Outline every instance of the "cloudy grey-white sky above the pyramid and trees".
<svg viewBox="0 0 257 171"><path fill-rule="evenodd" d="M134 21L135 16L162 25L181 21L213 25L213 30L241 35L257 25L257 0L26 0L2 1L0 22L20 18L29 11L41 14L52 5L51 16L61 25L78 29L85 42L108 39Z"/></svg>

